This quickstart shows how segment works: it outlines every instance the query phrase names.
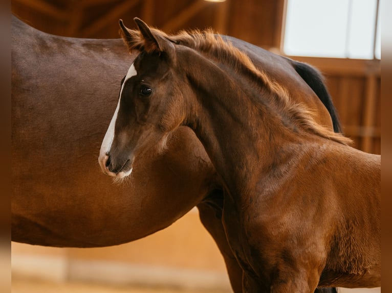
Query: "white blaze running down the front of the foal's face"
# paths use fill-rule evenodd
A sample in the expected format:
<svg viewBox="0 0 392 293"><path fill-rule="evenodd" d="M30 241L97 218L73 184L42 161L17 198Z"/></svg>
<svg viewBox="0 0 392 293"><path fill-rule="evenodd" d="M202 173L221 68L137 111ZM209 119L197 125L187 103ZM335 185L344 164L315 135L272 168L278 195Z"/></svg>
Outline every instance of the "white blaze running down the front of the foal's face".
<svg viewBox="0 0 392 293"><path fill-rule="evenodd" d="M98 161L99 161L99 164L100 164L102 170L104 170L104 172L106 172L106 173L109 172L107 170L106 166L105 166L106 153L109 152L111 147L112 147L112 143L113 143L113 139L114 139L114 126L116 125L118 110L120 108L120 101L121 101L122 90L124 89L124 85L125 85L126 81L129 80L130 78L132 78L133 76L136 76L136 75L137 75L137 72L136 72L135 66L134 66L134 64L132 64L132 65L130 65L130 67L128 69L128 72L127 72L127 74L125 76L124 82L122 83L121 90L120 90L120 96L119 96L119 99L118 99L116 111L114 112L112 120L110 121L110 125L107 128L105 137L103 138L103 141L102 141L102 144L101 144L101 149L99 151ZM123 176L129 175L131 170L129 170L129 172L127 172L126 174L123 174L123 172L120 172L118 175L120 175L120 174L122 174Z"/></svg>

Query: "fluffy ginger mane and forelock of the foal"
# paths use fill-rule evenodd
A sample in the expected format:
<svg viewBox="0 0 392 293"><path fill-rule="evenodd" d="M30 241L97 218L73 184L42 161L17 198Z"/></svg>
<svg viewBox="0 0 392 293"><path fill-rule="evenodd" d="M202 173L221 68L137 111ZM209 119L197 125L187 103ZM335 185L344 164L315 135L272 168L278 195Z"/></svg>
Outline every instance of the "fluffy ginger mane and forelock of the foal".
<svg viewBox="0 0 392 293"><path fill-rule="evenodd" d="M293 103L288 90L284 86L271 80L263 70L258 70L245 53L234 47L230 42L223 40L220 35L212 30L181 31L177 35L167 35L158 29L151 29L151 31L173 43L192 48L209 59L227 64L237 72L243 72L257 85L260 85L261 81L273 93L270 95L269 104L280 113L284 113L286 116L288 115L297 127L342 144L352 143L350 138L317 124L313 119L313 112L310 109L303 104ZM148 44L144 41L139 31L128 30L128 32L130 37L125 36L122 30L120 30L120 35L128 45L130 51L138 50L150 53L155 50L155 48L148 47Z"/></svg>

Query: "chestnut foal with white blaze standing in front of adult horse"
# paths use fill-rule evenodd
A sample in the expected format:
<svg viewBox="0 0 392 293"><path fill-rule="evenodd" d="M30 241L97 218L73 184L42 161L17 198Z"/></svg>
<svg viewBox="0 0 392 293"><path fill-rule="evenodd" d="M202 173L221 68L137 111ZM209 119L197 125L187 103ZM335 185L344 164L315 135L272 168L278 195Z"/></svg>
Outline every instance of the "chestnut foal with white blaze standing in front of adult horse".
<svg viewBox="0 0 392 293"><path fill-rule="evenodd" d="M244 291L381 286L381 157L315 123L269 72L212 33L167 36L136 22L140 31L120 22L140 54L101 146L103 172L129 175L140 154L186 125L222 180Z"/></svg>

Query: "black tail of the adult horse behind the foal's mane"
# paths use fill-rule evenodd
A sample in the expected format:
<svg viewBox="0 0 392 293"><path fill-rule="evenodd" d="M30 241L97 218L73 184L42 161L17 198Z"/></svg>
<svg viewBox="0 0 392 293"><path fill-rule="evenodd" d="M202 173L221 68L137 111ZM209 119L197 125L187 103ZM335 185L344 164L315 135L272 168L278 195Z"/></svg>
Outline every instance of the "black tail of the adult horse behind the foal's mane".
<svg viewBox="0 0 392 293"><path fill-rule="evenodd" d="M324 79L320 74L320 72L316 70L314 67L298 61L293 61L293 66L295 71L297 71L297 73L300 75L300 77L317 94L322 104L324 104L324 106L330 113L332 118L332 123L334 126L334 131L336 133L342 133L342 128L340 125L338 113L335 109L334 104L332 103L331 95L325 87Z"/></svg>

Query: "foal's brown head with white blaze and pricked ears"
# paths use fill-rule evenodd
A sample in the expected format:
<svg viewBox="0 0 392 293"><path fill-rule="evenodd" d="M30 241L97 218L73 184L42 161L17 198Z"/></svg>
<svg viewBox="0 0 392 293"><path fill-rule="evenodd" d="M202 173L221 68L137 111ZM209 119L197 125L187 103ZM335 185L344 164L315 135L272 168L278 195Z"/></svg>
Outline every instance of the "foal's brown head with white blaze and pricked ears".
<svg viewBox="0 0 392 293"><path fill-rule="evenodd" d="M150 147L165 147L170 132L183 123L186 86L176 78L176 48L166 36L138 18L140 32L120 20L122 37L140 54L121 83L119 102L102 142L99 163L104 173L123 178L135 156Z"/></svg>

